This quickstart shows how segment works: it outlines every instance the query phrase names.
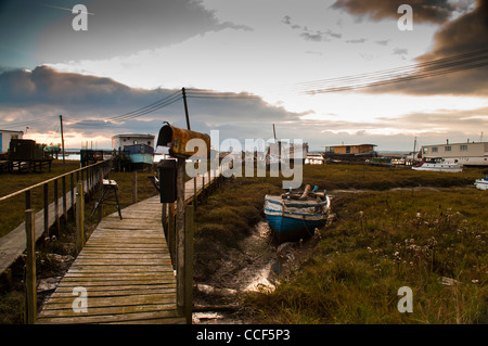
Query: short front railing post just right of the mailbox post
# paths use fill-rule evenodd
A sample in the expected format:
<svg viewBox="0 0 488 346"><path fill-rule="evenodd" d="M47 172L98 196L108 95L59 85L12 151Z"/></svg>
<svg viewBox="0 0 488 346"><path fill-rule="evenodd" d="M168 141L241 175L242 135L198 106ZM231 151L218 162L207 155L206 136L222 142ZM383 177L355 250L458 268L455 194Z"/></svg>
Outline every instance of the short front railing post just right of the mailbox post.
<svg viewBox="0 0 488 346"><path fill-rule="evenodd" d="M193 312L193 207L187 206L187 232L184 235L184 317L192 323Z"/></svg>

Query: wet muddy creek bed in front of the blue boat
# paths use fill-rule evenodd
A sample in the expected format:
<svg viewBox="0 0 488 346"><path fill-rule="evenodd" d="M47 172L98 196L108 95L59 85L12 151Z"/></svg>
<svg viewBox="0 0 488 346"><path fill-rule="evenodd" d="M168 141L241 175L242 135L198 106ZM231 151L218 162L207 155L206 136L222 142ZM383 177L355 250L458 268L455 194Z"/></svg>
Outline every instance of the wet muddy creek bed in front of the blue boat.
<svg viewBox="0 0 488 346"><path fill-rule="evenodd" d="M248 292L273 291L319 242L314 235L295 243L275 244L268 223L259 221L252 233L230 248L218 270L194 286L193 323L246 324L255 318L242 306Z"/></svg>

